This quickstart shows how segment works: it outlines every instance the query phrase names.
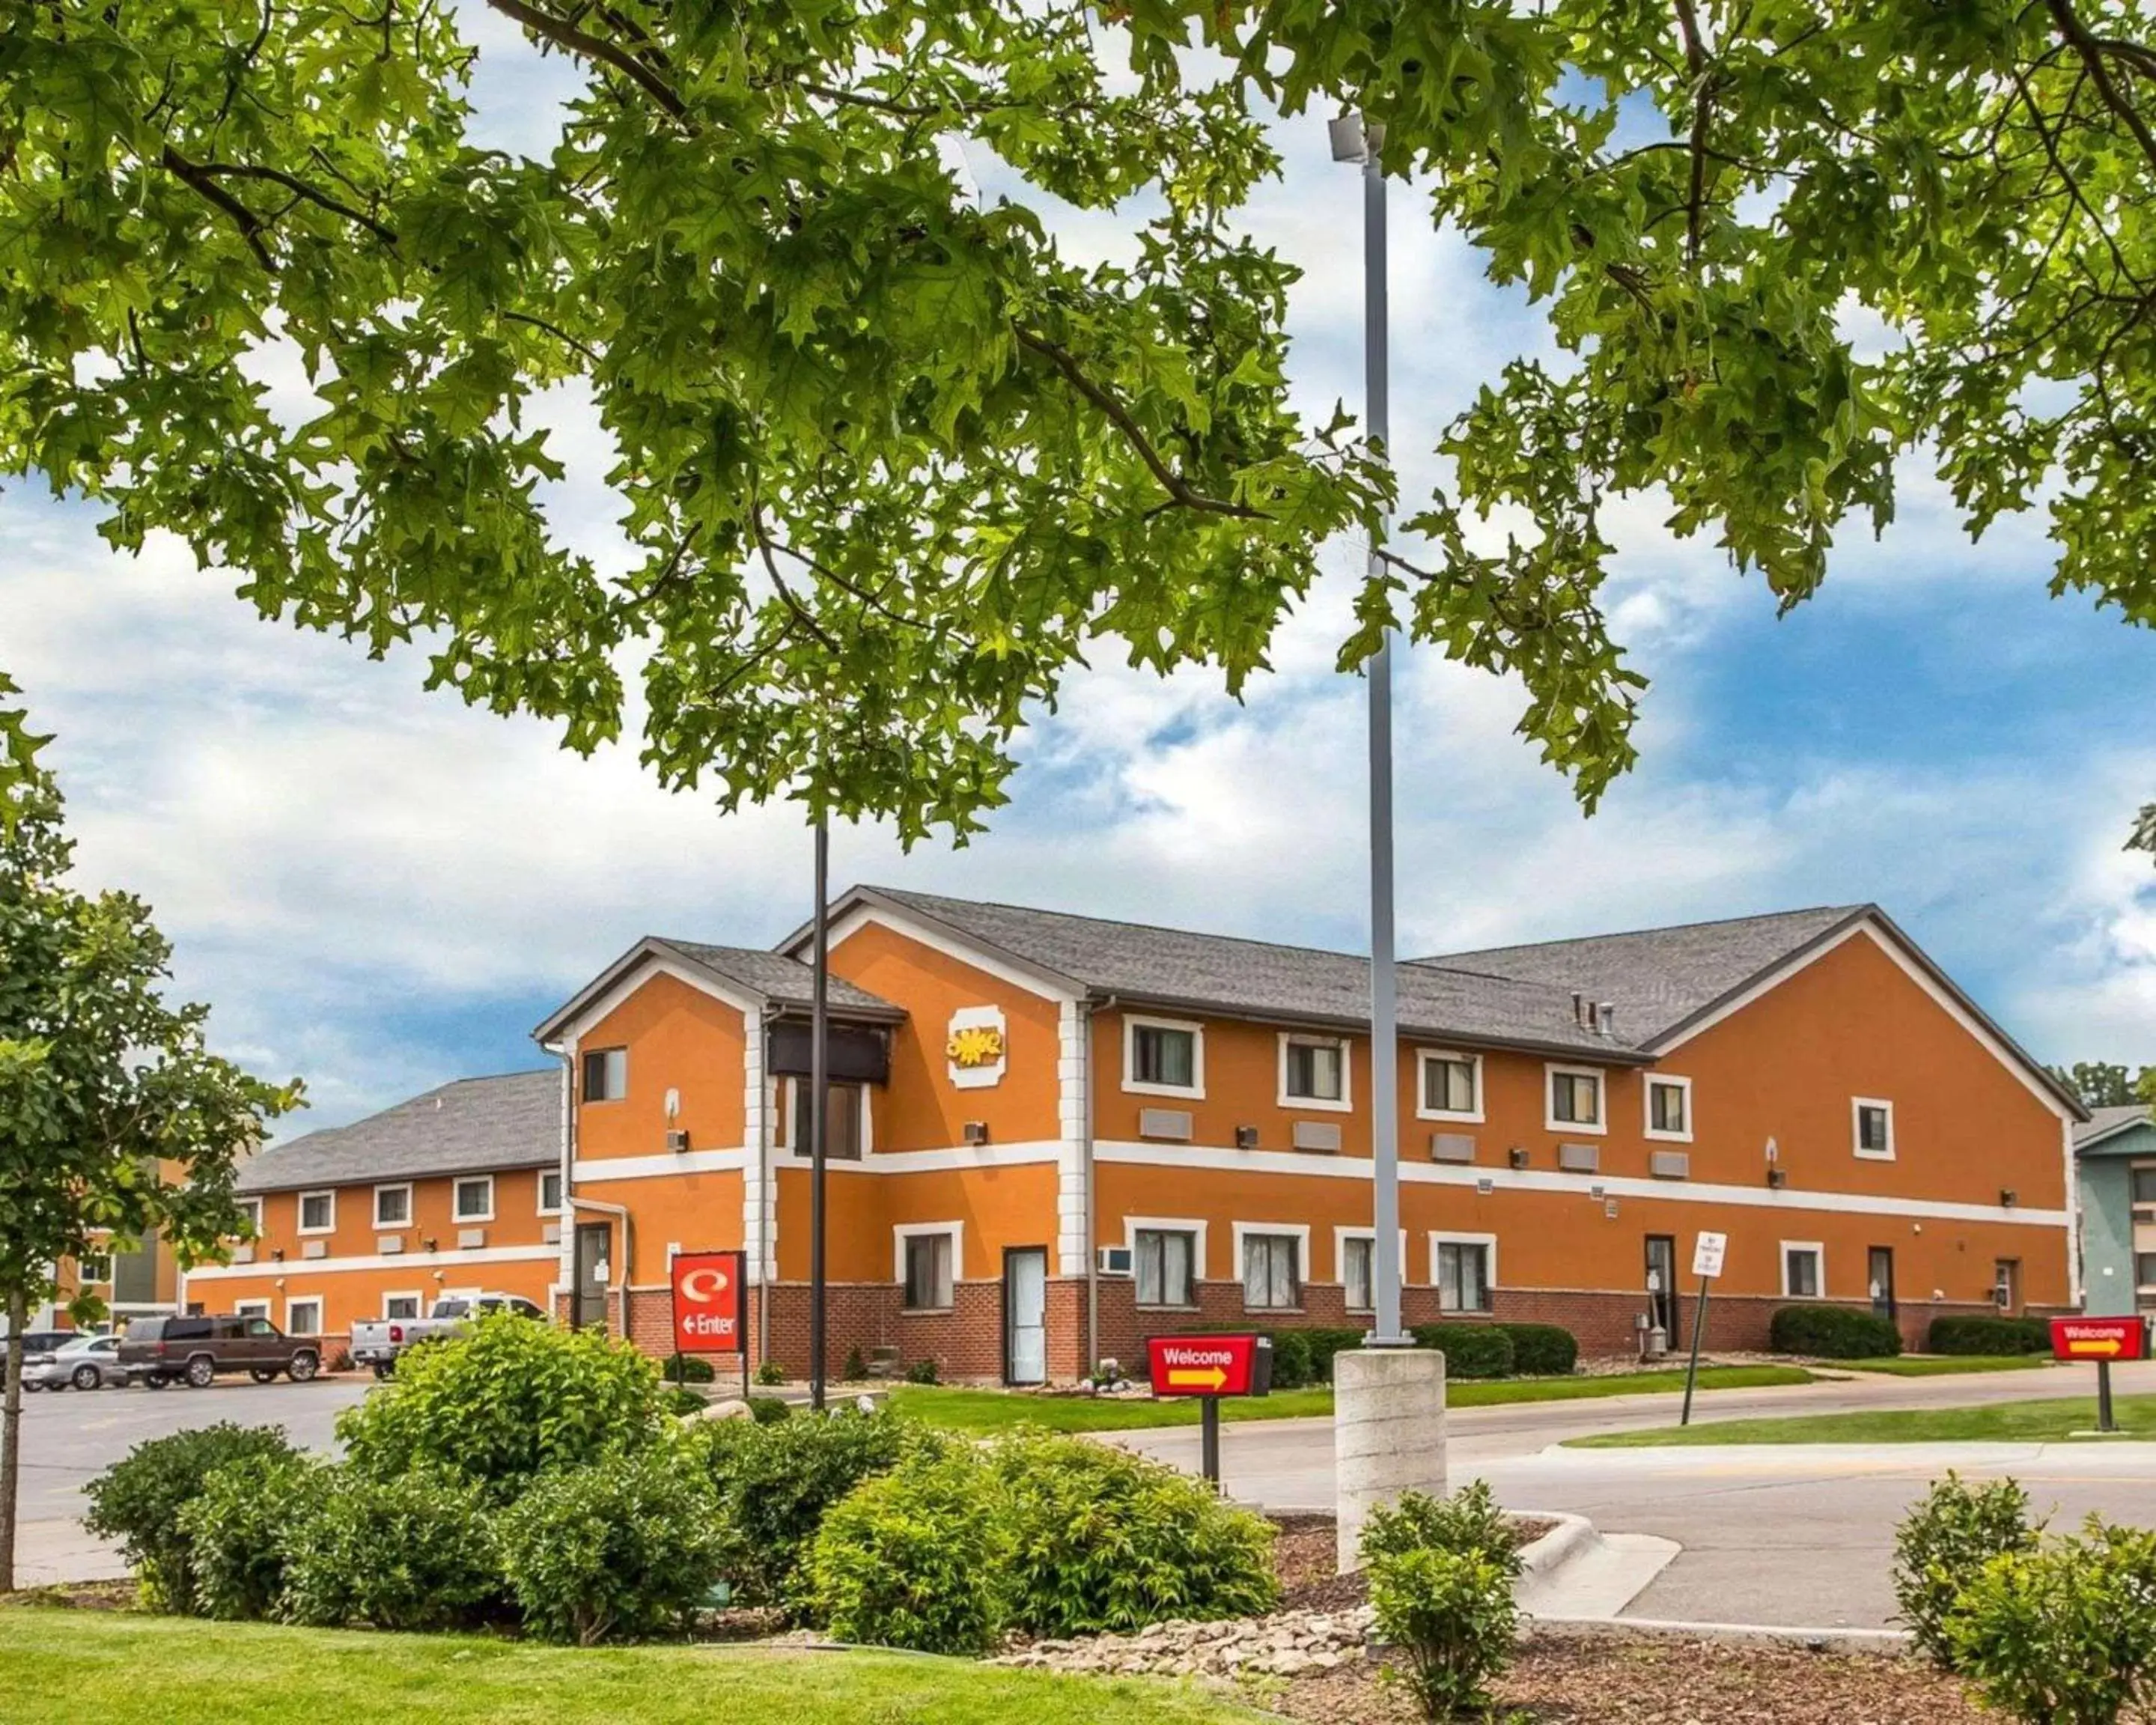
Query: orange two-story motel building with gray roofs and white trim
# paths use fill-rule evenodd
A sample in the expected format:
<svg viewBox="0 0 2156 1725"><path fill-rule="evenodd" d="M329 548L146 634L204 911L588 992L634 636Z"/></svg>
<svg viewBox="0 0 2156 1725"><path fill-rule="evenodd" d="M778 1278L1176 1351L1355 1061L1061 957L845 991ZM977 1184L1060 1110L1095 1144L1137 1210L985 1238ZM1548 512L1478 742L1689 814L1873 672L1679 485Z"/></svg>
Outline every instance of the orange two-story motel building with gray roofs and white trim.
<svg viewBox="0 0 2156 1725"><path fill-rule="evenodd" d="M479 1078L265 1151L183 1300L326 1335L507 1292L653 1352L677 1251L744 1248L808 1354L806 932L647 938ZM1371 1307L1365 960L860 886L832 908L830 1350L1061 1380L1145 1335ZM2078 1300L2081 1104L1876 906L1399 966L1408 1322L1630 1354L1830 1300Z"/></svg>

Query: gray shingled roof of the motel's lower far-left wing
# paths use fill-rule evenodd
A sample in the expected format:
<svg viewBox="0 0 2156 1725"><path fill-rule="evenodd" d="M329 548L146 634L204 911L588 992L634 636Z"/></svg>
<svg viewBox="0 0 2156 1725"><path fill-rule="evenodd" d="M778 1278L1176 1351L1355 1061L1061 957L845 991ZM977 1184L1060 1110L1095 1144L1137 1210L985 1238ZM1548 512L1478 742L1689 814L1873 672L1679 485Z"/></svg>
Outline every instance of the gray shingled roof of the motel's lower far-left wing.
<svg viewBox="0 0 2156 1725"><path fill-rule="evenodd" d="M241 1192L539 1169L561 1160L561 1067L459 1078L379 1115L274 1145Z"/></svg>

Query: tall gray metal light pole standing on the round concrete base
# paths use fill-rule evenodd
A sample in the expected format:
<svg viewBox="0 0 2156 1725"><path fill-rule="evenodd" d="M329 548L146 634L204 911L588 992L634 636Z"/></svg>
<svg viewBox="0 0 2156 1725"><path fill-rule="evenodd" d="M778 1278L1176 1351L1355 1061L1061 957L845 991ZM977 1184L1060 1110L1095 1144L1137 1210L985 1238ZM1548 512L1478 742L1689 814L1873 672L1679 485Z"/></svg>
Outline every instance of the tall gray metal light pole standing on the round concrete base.
<svg viewBox="0 0 2156 1725"><path fill-rule="evenodd" d="M1391 453L1391 364L1386 356L1384 127L1360 114L1330 123L1332 160L1363 168L1363 395L1369 438ZM1371 537L1369 574L1384 574L1380 535ZM1386 632L1369 666L1369 1248L1373 1348L1406 1348L1399 1326L1399 1005L1393 938L1393 636Z"/></svg>

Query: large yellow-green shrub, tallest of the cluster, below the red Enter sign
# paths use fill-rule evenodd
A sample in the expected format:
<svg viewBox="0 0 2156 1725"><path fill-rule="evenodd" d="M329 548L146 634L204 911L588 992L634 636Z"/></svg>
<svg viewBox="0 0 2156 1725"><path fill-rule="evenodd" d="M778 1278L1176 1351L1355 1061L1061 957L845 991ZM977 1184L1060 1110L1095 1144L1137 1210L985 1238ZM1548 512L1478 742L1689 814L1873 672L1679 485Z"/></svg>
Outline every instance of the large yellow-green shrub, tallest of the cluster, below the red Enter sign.
<svg viewBox="0 0 2156 1725"><path fill-rule="evenodd" d="M515 1315L407 1348L395 1382L336 1421L358 1473L440 1471L496 1503L550 1468L651 1449L662 1430L658 1365L636 1348Z"/></svg>

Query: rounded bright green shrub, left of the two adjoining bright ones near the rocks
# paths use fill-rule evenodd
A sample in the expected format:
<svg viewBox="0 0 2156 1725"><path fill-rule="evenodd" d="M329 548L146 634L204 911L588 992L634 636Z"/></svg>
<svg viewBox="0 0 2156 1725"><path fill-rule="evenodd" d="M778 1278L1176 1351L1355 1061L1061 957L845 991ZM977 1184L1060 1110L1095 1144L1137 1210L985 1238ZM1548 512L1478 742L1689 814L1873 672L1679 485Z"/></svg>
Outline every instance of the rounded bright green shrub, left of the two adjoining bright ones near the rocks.
<svg viewBox="0 0 2156 1725"><path fill-rule="evenodd" d="M787 1430L787 1427L772 1427ZM839 1641L983 1654L1007 1619L998 1481L975 1449L923 1449L826 1518L808 1550L811 1613Z"/></svg>

